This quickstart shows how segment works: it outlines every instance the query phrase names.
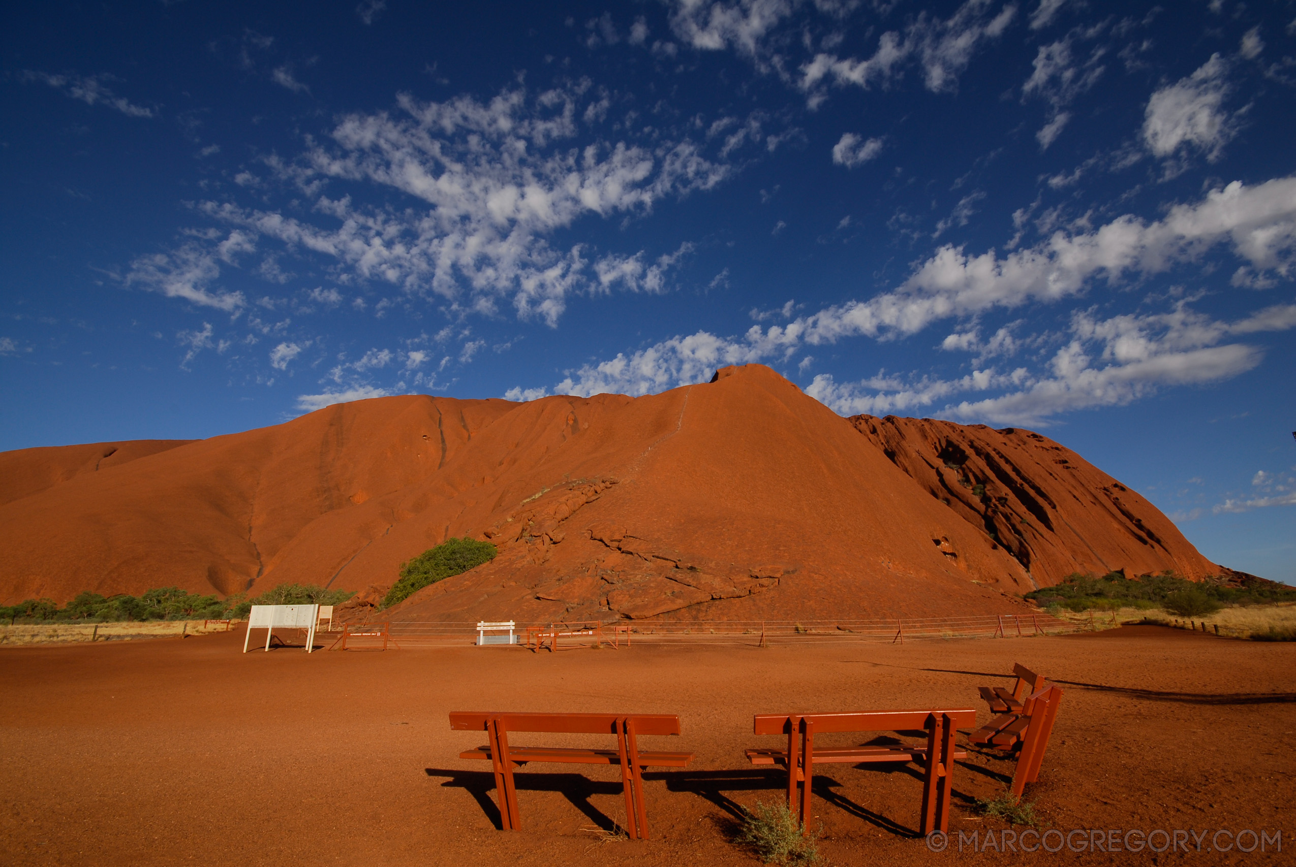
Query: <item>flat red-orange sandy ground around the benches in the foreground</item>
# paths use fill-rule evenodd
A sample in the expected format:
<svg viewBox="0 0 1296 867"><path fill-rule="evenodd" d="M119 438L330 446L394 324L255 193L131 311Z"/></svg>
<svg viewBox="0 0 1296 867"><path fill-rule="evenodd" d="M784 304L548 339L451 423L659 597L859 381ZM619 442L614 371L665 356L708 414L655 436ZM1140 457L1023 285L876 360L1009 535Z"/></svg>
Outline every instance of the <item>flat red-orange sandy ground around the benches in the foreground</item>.
<svg viewBox="0 0 1296 867"><path fill-rule="evenodd" d="M951 841L933 854L914 836L914 766L837 765L815 779L826 863L1278 864L1296 851L1293 644L1122 627L767 649L241 647L237 631L0 649L0 861L756 864L730 841L734 819L739 805L780 798L783 779L743 757L765 740L750 734L752 714L941 705L977 706L984 721L976 687L1008 686L1015 661L1065 689L1028 791L1045 826L1187 831L1201 851L973 854ZM447 711L473 709L678 713L683 735L644 746L696 759L645 775L649 841L601 841L597 829L623 819L619 771L575 765L518 771L524 831L503 832L490 769L457 758L485 737L447 723ZM976 752L960 763L955 838L1007 827L972 801L1002 791L1011 770ZM1286 851L1208 851L1245 829L1280 831Z"/></svg>

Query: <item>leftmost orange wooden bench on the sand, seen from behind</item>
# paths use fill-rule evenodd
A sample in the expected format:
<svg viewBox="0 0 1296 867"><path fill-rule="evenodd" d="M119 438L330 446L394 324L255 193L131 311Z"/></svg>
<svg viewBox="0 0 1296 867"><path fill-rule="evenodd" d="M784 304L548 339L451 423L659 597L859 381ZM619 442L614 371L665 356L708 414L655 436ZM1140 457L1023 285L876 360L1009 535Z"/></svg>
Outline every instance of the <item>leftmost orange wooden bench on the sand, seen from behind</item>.
<svg viewBox="0 0 1296 867"><path fill-rule="evenodd" d="M456 711L450 714L452 731L485 731L485 746L469 749L459 758L490 759L495 770L495 800L505 831L522 827L517 813L513 766L527 762L573 762L577 765L619 765L621 789L626 797L626 831L634 840L648 838L648 810L644 806L643 769L687 767L692 753L664 753L639 749L642 735L678 735L674 714L552 714ZM513 732L553 732L570 735L616 735L616 749L570 749L556 746L513 746Z"/></svg>

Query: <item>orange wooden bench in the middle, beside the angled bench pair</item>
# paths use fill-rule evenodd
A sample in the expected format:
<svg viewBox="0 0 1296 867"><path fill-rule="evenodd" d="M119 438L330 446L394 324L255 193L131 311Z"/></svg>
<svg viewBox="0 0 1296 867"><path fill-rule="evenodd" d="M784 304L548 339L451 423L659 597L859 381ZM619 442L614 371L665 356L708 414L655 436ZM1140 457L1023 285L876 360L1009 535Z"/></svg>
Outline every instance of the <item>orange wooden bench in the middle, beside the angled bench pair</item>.
<svg viewBox="0 0 1296 867"><path fill-rule="evenodd" d="M810 787L815 765L864 762L918 762L923 776L923 833L936 828L949 831L950 791L954 785L954 759L967 752L954 748L954 732L976 724L976 710L953 708L936 710L864 710L827 714L757 714L757 735L785 735L787 749L749 749L753 765L783 765L788 769L788 807L797 809L797 783L801 783L798 815L810 819ZM818 749L815 735L827 732L899 732L925 730L925 746L850 746ZM800 737L800 743L798 743Z"/></svg>

